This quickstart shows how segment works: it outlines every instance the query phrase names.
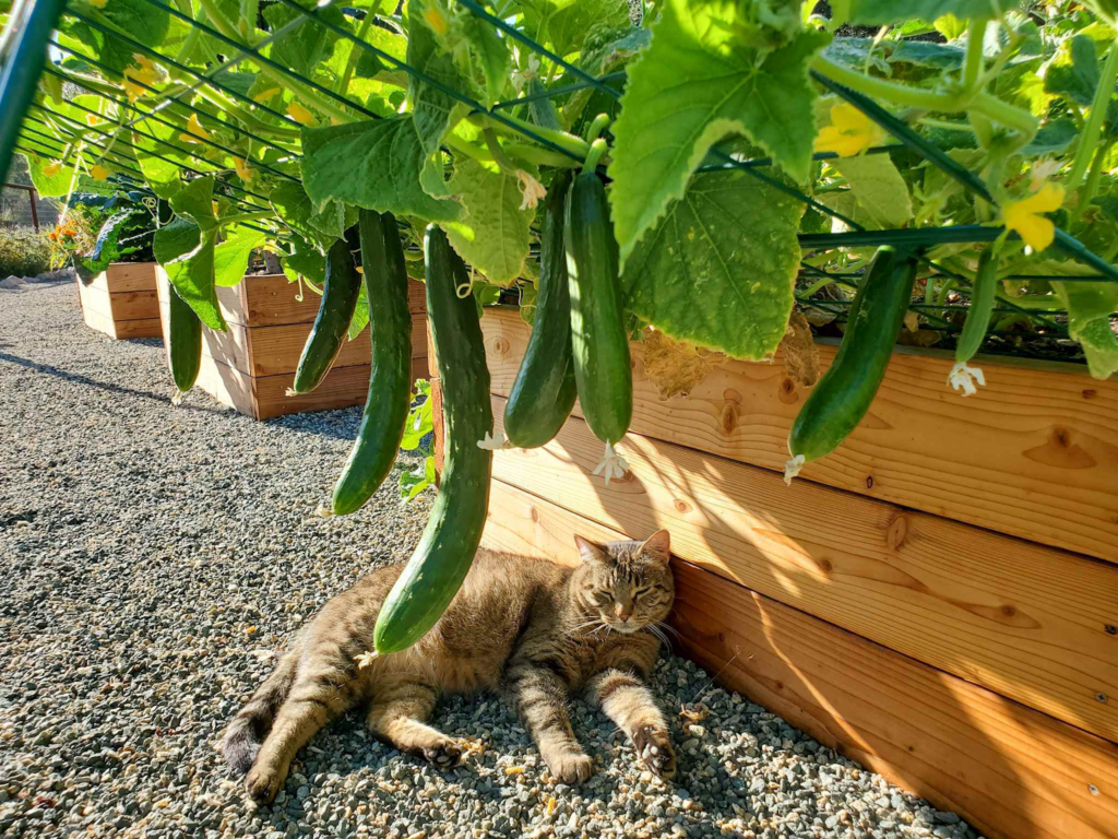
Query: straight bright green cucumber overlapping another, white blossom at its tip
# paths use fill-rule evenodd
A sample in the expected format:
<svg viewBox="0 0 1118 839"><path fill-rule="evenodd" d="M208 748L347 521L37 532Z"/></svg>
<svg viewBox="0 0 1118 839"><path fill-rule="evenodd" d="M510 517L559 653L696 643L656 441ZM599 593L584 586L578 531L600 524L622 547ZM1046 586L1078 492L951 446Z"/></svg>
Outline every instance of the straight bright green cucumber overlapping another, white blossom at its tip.
<svg viewBox="0 0 1118 839"><path fill-rule="evenodd" d="M616 443L633 418L633 370L617 280L617 241L594 171L571 183L566 213L570 339L578 398L590 431Z"/></svg>

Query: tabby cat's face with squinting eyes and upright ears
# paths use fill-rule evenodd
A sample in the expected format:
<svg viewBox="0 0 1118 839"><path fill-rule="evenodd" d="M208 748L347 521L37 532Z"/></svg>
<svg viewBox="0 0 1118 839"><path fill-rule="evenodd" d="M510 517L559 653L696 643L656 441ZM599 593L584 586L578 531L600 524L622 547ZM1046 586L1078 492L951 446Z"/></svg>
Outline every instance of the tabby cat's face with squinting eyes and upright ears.
<svg viewBox="0 0 1118 839"><path fill-rule="evenodd" d="M644 541L597 544L576 536L575 543L582 557L577 596L601 623L628 634L667 616L675 584L666 530Z"/></svg>

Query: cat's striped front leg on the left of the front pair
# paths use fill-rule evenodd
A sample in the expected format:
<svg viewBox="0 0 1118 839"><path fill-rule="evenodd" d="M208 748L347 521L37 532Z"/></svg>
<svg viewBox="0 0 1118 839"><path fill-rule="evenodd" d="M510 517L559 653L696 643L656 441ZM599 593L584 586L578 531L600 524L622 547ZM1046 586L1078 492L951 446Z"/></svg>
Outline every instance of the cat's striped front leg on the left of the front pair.
<svg viewBox="0 0 1118 839"><path fill-rule="evenodd" d="M547 667L513 663L505 673L505 691L539 745L551 774L568 784L588 779L594 762L570 727L563 680Z"/></svg>

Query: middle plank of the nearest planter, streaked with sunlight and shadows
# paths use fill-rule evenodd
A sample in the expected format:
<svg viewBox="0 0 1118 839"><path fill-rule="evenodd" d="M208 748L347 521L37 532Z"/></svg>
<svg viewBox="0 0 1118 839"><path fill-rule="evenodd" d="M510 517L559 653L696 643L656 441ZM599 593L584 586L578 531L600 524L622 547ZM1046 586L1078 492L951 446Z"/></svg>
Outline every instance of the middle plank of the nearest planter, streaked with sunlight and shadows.
<svg viewBox="0 0 1118 839"><path fill-rule="evenodd" d="M688 562L1118 739L1118 567L635 434L607 487L601 449L572 418L493 474L619 530L667 527Z"/></svg>

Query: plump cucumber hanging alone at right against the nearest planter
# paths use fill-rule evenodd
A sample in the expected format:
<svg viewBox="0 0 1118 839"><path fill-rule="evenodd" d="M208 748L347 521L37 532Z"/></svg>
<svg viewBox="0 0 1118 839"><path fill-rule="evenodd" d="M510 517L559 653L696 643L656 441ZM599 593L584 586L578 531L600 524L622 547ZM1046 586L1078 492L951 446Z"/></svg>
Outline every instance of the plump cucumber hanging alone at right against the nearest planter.
<svg viewBox="0 0 1118 839"><path fill-rule="evenodd" d="M909 254L889 245L878 248L854 296L831 369L812 388L792 424L785 482L792 483L805 463L833 452L865 416L912 301L916 270Z"/></svg>

